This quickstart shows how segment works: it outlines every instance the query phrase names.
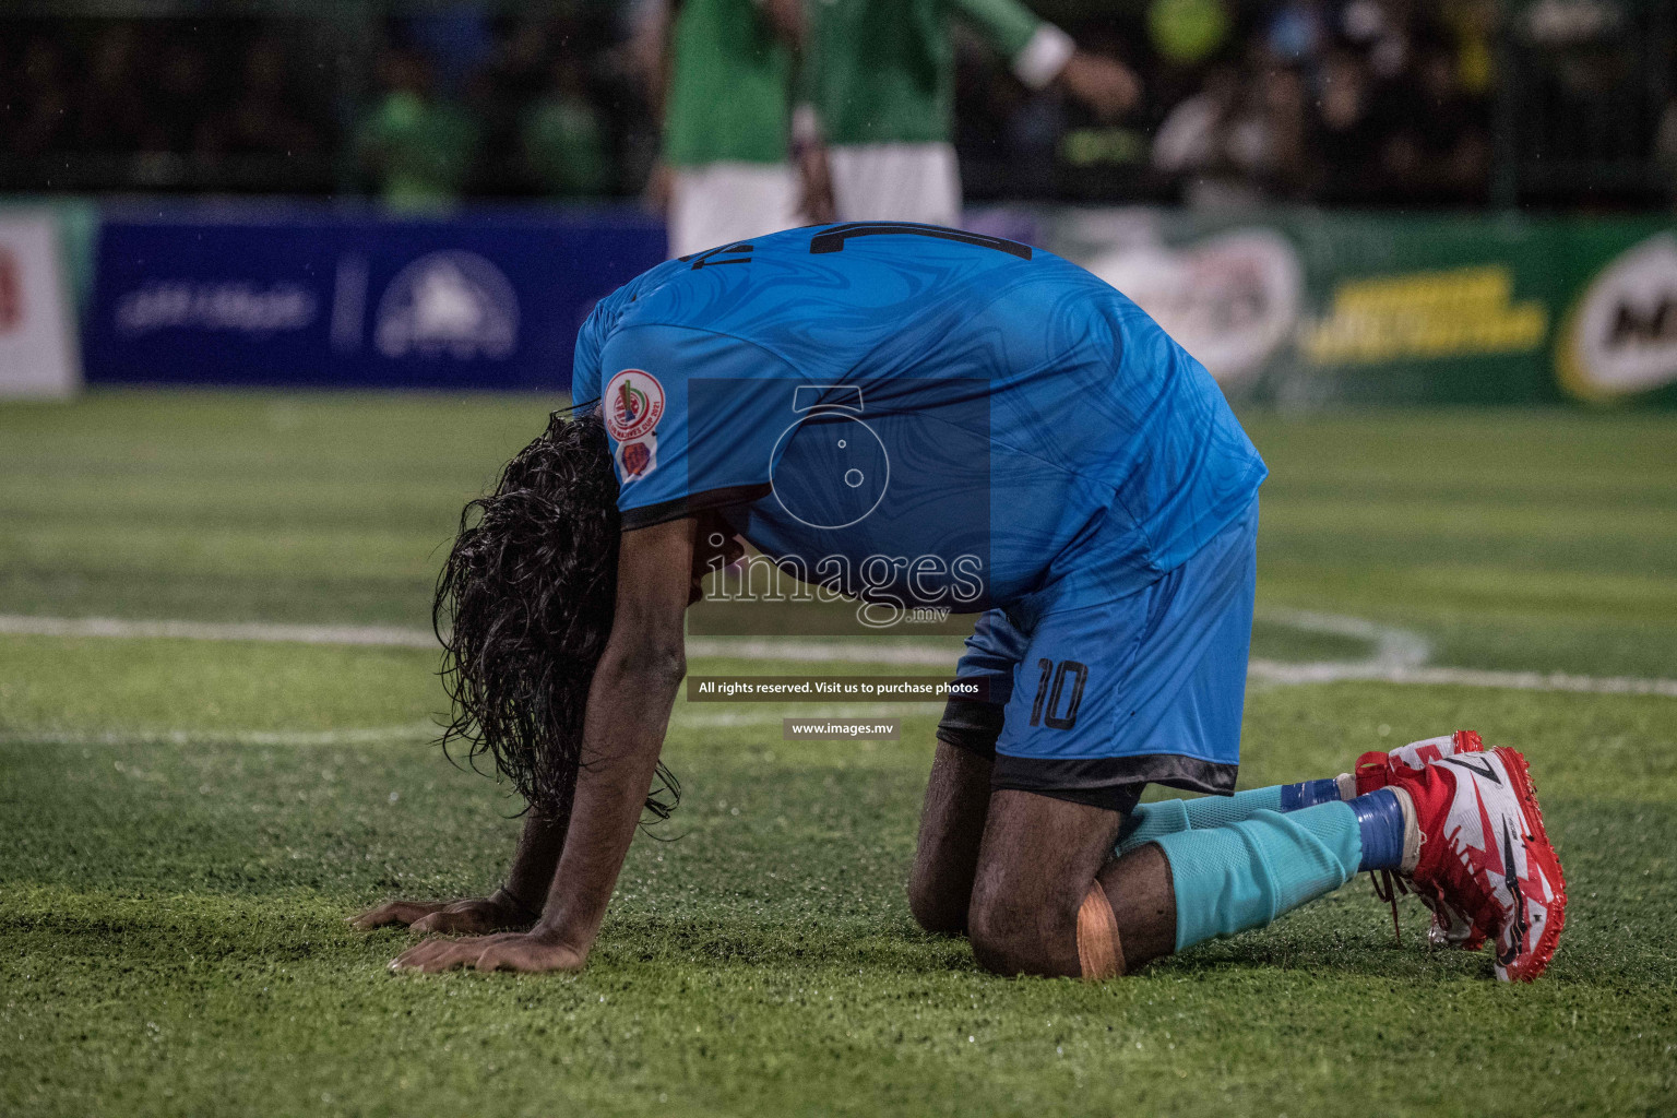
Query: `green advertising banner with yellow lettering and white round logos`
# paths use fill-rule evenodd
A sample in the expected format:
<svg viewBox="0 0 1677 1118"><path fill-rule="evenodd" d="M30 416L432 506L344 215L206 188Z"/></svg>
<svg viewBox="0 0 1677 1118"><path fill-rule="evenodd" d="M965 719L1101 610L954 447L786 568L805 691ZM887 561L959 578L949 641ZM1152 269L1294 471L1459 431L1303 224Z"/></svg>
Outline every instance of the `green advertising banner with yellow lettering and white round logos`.
<svg viewBox="0 0 1677 1118"><path fill-rule="evenodd" d="M1036 216L1236 397L1677 404L1677 221Z"/></svg>

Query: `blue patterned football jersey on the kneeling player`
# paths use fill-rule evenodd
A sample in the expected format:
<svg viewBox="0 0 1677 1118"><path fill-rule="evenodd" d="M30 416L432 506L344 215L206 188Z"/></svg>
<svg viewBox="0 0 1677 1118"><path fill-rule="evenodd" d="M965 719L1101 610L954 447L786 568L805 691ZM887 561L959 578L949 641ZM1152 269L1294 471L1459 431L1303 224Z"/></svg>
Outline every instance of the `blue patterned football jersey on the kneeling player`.
<svg viewBox="0 0 1677 1118"><path fill-rule="evenodd" d="M1211 375L1058 256L924 225L666 261L589 317L624 528L704 508L807 582L956 612L1110 600L1264 464Z"/></svg>

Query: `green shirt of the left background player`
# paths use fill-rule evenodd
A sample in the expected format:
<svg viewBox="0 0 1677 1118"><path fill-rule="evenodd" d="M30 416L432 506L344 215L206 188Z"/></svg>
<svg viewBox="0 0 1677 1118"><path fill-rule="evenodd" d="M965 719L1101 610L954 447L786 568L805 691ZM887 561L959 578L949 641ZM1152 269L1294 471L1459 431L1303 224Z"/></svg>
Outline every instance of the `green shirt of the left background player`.
<svg viewBox="0 0 1677 1118"><path fill-rule="evenodd" d="M783 163L792 119L792 50L755 0L686 0L671 35L664 159Z"/></svg>

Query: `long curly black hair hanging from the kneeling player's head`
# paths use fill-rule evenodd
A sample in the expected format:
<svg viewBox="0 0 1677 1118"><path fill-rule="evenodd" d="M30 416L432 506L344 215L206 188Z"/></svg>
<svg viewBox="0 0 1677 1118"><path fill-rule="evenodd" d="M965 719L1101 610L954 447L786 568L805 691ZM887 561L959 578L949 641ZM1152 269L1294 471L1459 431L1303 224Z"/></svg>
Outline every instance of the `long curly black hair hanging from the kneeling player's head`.
<svg viewBox="0 0 1677 1118"><path fill-rule="evenodd" d="M582 719L617 598L617 478L592 409L557 411L547 431L466 505L436 580L451 717L443 751L488 756L527 808L570 818ZM681 784L662 763L646 808L666 820Z"/></svg>

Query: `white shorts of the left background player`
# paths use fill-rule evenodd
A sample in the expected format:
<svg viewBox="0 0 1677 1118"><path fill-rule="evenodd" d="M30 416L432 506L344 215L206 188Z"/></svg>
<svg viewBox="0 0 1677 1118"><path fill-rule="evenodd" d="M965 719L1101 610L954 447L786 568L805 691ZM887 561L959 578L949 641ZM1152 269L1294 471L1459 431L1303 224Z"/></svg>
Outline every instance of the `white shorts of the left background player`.
<svg viewBox="0 0 1677 1118"><path fill-rule="evenodd" d="M746 241L802 225L798 183L785 163L676 168L669 186L669 255Z"/></svg>

